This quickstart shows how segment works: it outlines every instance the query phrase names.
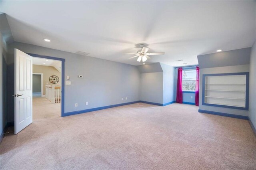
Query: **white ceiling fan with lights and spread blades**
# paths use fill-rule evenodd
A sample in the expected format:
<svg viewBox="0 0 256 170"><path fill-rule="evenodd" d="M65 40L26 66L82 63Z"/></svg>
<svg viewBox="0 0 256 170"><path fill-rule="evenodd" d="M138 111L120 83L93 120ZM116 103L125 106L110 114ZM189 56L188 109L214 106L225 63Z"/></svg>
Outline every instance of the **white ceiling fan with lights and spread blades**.
<svg viewBox="0 0 256 170"><path fill-rule="evenodd" d="M138 57L137 61L145 62L147 59L151 59L148 55L164 55L164 52L158 52L158 53L147 53L149 48L145 47L144 44L140 44L141 51L138 51L138 53L126 53L126 54L135 54L135 56L130 57L129 59Z"/></svg>

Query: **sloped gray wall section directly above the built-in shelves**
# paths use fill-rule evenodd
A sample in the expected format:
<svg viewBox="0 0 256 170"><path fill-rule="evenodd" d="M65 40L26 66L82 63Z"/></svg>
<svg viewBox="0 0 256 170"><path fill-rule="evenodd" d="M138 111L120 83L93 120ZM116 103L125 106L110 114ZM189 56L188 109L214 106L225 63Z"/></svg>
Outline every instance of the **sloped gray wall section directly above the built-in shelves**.
<svg viewBox="0 0 256 170"><path fill-rule="evenodd" d="M198 55L198 64L200 69L210 67L224 67L230 65L245 65L250 62L251 47Z"/></svg>

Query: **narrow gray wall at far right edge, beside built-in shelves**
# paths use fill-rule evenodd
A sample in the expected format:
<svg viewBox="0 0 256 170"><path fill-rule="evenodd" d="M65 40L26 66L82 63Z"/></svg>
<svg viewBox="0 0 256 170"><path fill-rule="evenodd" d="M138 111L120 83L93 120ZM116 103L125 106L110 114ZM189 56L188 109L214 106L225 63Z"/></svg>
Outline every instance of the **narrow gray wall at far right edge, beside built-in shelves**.
<svg viewBox="0 0 256 170"><path fill-rule="evenodd" d="M252 46L250 57L250 93L249 93L249 118L256 128L256 42Z"/></svg>

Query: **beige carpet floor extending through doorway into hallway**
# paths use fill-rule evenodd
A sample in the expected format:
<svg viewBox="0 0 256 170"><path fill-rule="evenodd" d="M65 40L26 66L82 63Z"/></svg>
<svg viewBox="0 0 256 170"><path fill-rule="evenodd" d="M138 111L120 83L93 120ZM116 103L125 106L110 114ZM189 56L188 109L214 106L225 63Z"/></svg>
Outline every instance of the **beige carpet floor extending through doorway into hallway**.
<svg viewBox="0 0 256 170"><path fill-rule="evenodd" d="M246 120L178 103L60 117L60 105L34 101L33 123L4 136L0 169L256 169Z"/></svg>

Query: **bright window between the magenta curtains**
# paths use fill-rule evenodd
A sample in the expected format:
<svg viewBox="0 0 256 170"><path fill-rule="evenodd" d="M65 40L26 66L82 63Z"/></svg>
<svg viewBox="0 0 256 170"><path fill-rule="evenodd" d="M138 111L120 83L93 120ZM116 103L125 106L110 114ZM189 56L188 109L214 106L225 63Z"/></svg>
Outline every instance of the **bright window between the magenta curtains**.
<svg viewBox="0 0 256 170"><path fill-rule="evenodd" d="M196 91L196 70L183 69L182 91Z"/></svg>

